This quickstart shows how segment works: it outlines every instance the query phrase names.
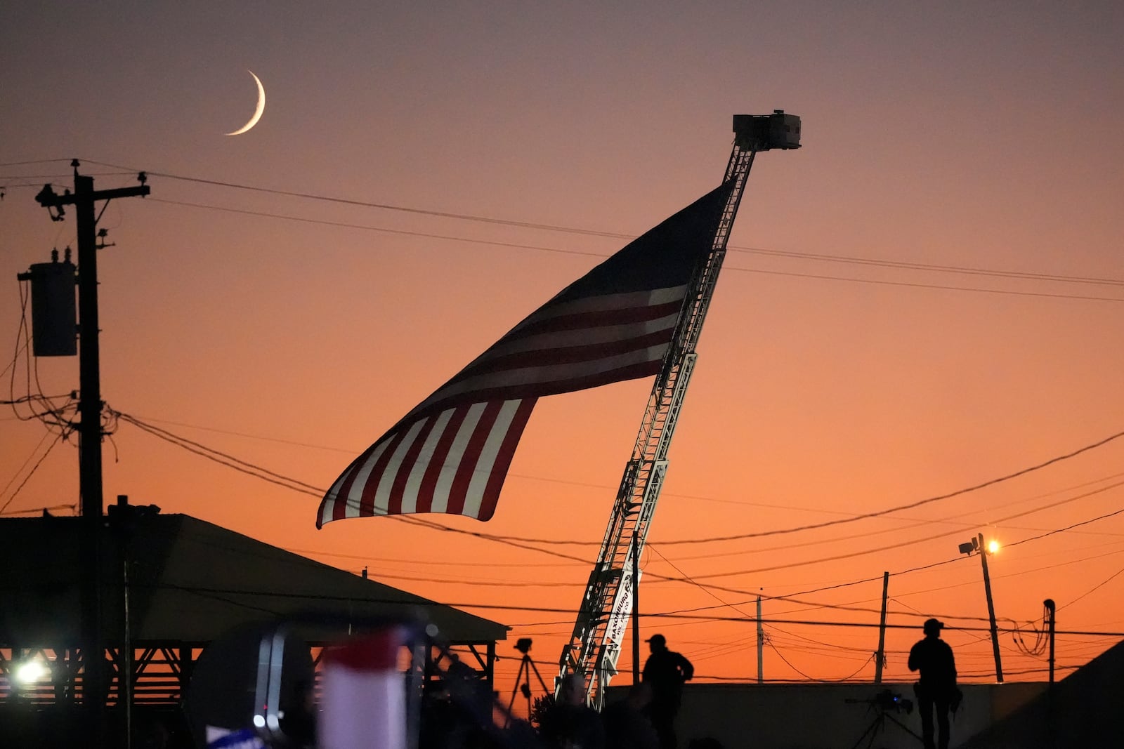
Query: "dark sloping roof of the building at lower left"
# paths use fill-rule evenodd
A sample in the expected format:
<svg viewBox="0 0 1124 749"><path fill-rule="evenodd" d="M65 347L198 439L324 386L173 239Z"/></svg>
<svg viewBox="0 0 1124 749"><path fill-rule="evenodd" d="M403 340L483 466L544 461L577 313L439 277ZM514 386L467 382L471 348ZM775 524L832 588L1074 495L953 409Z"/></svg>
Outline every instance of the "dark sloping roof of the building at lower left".
<svg viewBox="0 0 1124 749"><path fill-rule="evenodd" d="M154 505L118 505L105 520L100 556L107 645L120 641L124 631L126 544L130 638L136 643L203 643L250 622L309 612L337 627L353 618L356 624L420 619L453 643L507 639L504 624L190 515L161 514ZM80 642L82 570L91 558L88 528L83 518L0 519L0 568L6 570L0 646Z"/></svg>

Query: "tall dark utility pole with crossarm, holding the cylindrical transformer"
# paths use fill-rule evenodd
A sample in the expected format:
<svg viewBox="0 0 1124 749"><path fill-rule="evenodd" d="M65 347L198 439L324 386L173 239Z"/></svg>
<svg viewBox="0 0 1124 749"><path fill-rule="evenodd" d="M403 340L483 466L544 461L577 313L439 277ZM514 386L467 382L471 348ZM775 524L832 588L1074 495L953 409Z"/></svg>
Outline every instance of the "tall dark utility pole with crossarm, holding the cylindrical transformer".
<svg viewBox="0 0 1124 749"><path fill-rule="evenodd" d="M74 167L74 192L55 194L49 184L35 197L48 211L52 220L62 221L64 205L73 205L78 223L78 294L79 294L79 492L83 519L82 560L82 701L90 719L90 739L103 743L106 707L105 638L101 631L101 374L98 348L98 219L94 202L114 198L134 198L148 194L144 172L137 175L136 188L94 190L93 177L78 173ZM105 207L102 207L105 210ZM101 234L105 236L105 232ZM128 677L128 675L124 675ZM123 692L124 694L124 692Z"/></svg>

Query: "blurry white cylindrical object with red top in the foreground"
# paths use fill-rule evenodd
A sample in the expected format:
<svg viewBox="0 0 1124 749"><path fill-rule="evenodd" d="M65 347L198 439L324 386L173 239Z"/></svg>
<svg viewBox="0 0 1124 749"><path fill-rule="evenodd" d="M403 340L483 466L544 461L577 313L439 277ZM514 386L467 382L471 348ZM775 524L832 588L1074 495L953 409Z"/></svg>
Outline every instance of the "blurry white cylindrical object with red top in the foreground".
<svg viewBox="0 0 1124 749"><path fill-rule="evenodd" d="M406 749L406 685L397 628L324 655L319 749Z"/></svg>

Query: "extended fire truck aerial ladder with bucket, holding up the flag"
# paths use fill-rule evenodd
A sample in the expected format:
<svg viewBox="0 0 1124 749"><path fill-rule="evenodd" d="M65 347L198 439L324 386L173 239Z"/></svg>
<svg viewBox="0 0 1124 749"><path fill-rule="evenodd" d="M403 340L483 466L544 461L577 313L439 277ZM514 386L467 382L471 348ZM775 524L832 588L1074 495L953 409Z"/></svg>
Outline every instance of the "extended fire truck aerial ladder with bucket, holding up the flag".
<svg viewBox="0 0 1124 749"><path fill-rule="evenodd" d="M573 634L563 646L559 663L560 681L566 674L581 675L586 684L586 700L598 710L605 702L605 687L617 673L617 658L620 657L624 632L632 613L633 587L640 579L635 566L660 499L668 471L668 446L695 368L695 346L722 270L726 241L753 157L759 150L799 147L800 118L796 115L786 115L778 109L772 115L734 116L734 149L725 176L727 182L734 180L733 190L723 209L710 253L695 270L671 346L652 385L636 446L625 466ZM635 655L638 657L638 654Z"/></svg>

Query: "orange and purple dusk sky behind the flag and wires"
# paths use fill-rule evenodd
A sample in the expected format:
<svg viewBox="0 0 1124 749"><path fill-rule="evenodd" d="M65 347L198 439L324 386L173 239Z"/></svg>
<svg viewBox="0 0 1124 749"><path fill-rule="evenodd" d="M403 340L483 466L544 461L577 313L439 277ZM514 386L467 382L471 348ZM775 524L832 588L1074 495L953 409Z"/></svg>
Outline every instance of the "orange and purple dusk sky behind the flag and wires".
<svg viewBox="0 0 1124 749"><path fill-rule="evenodd" d="M765 678L870 681L890 572L905 629L883 678L912 681L935 615L962 681L994 681L980 564L957 549L977 533L1005 546L989 565L1007 681L1046 677L1024 652L1044 599L1060 675L1124 637L1124 514L1104 517L1124 509L1124 438L781 532L1124 431L1124 7L605 4L4 3L4 398L79 386L76 357L29 368L16 281L75 243L73 217L34 200L72 184L71 158L98 189L138 170L152 188L99 223L108 407L326 488L716 186L732 115L785 109L804 147L749 179L643 559L644 637L698 681L754 679L760 593ZM253 112L247 68L264 116L228 137ZM429 515L526 548L388 518L318 531L316 492L125 420L105 494L509 624L506 696L515 638L556 672L650 387L543 399L495 518ZM76 437L28 415L0 417L2 514L67 514Z"/></svg>

